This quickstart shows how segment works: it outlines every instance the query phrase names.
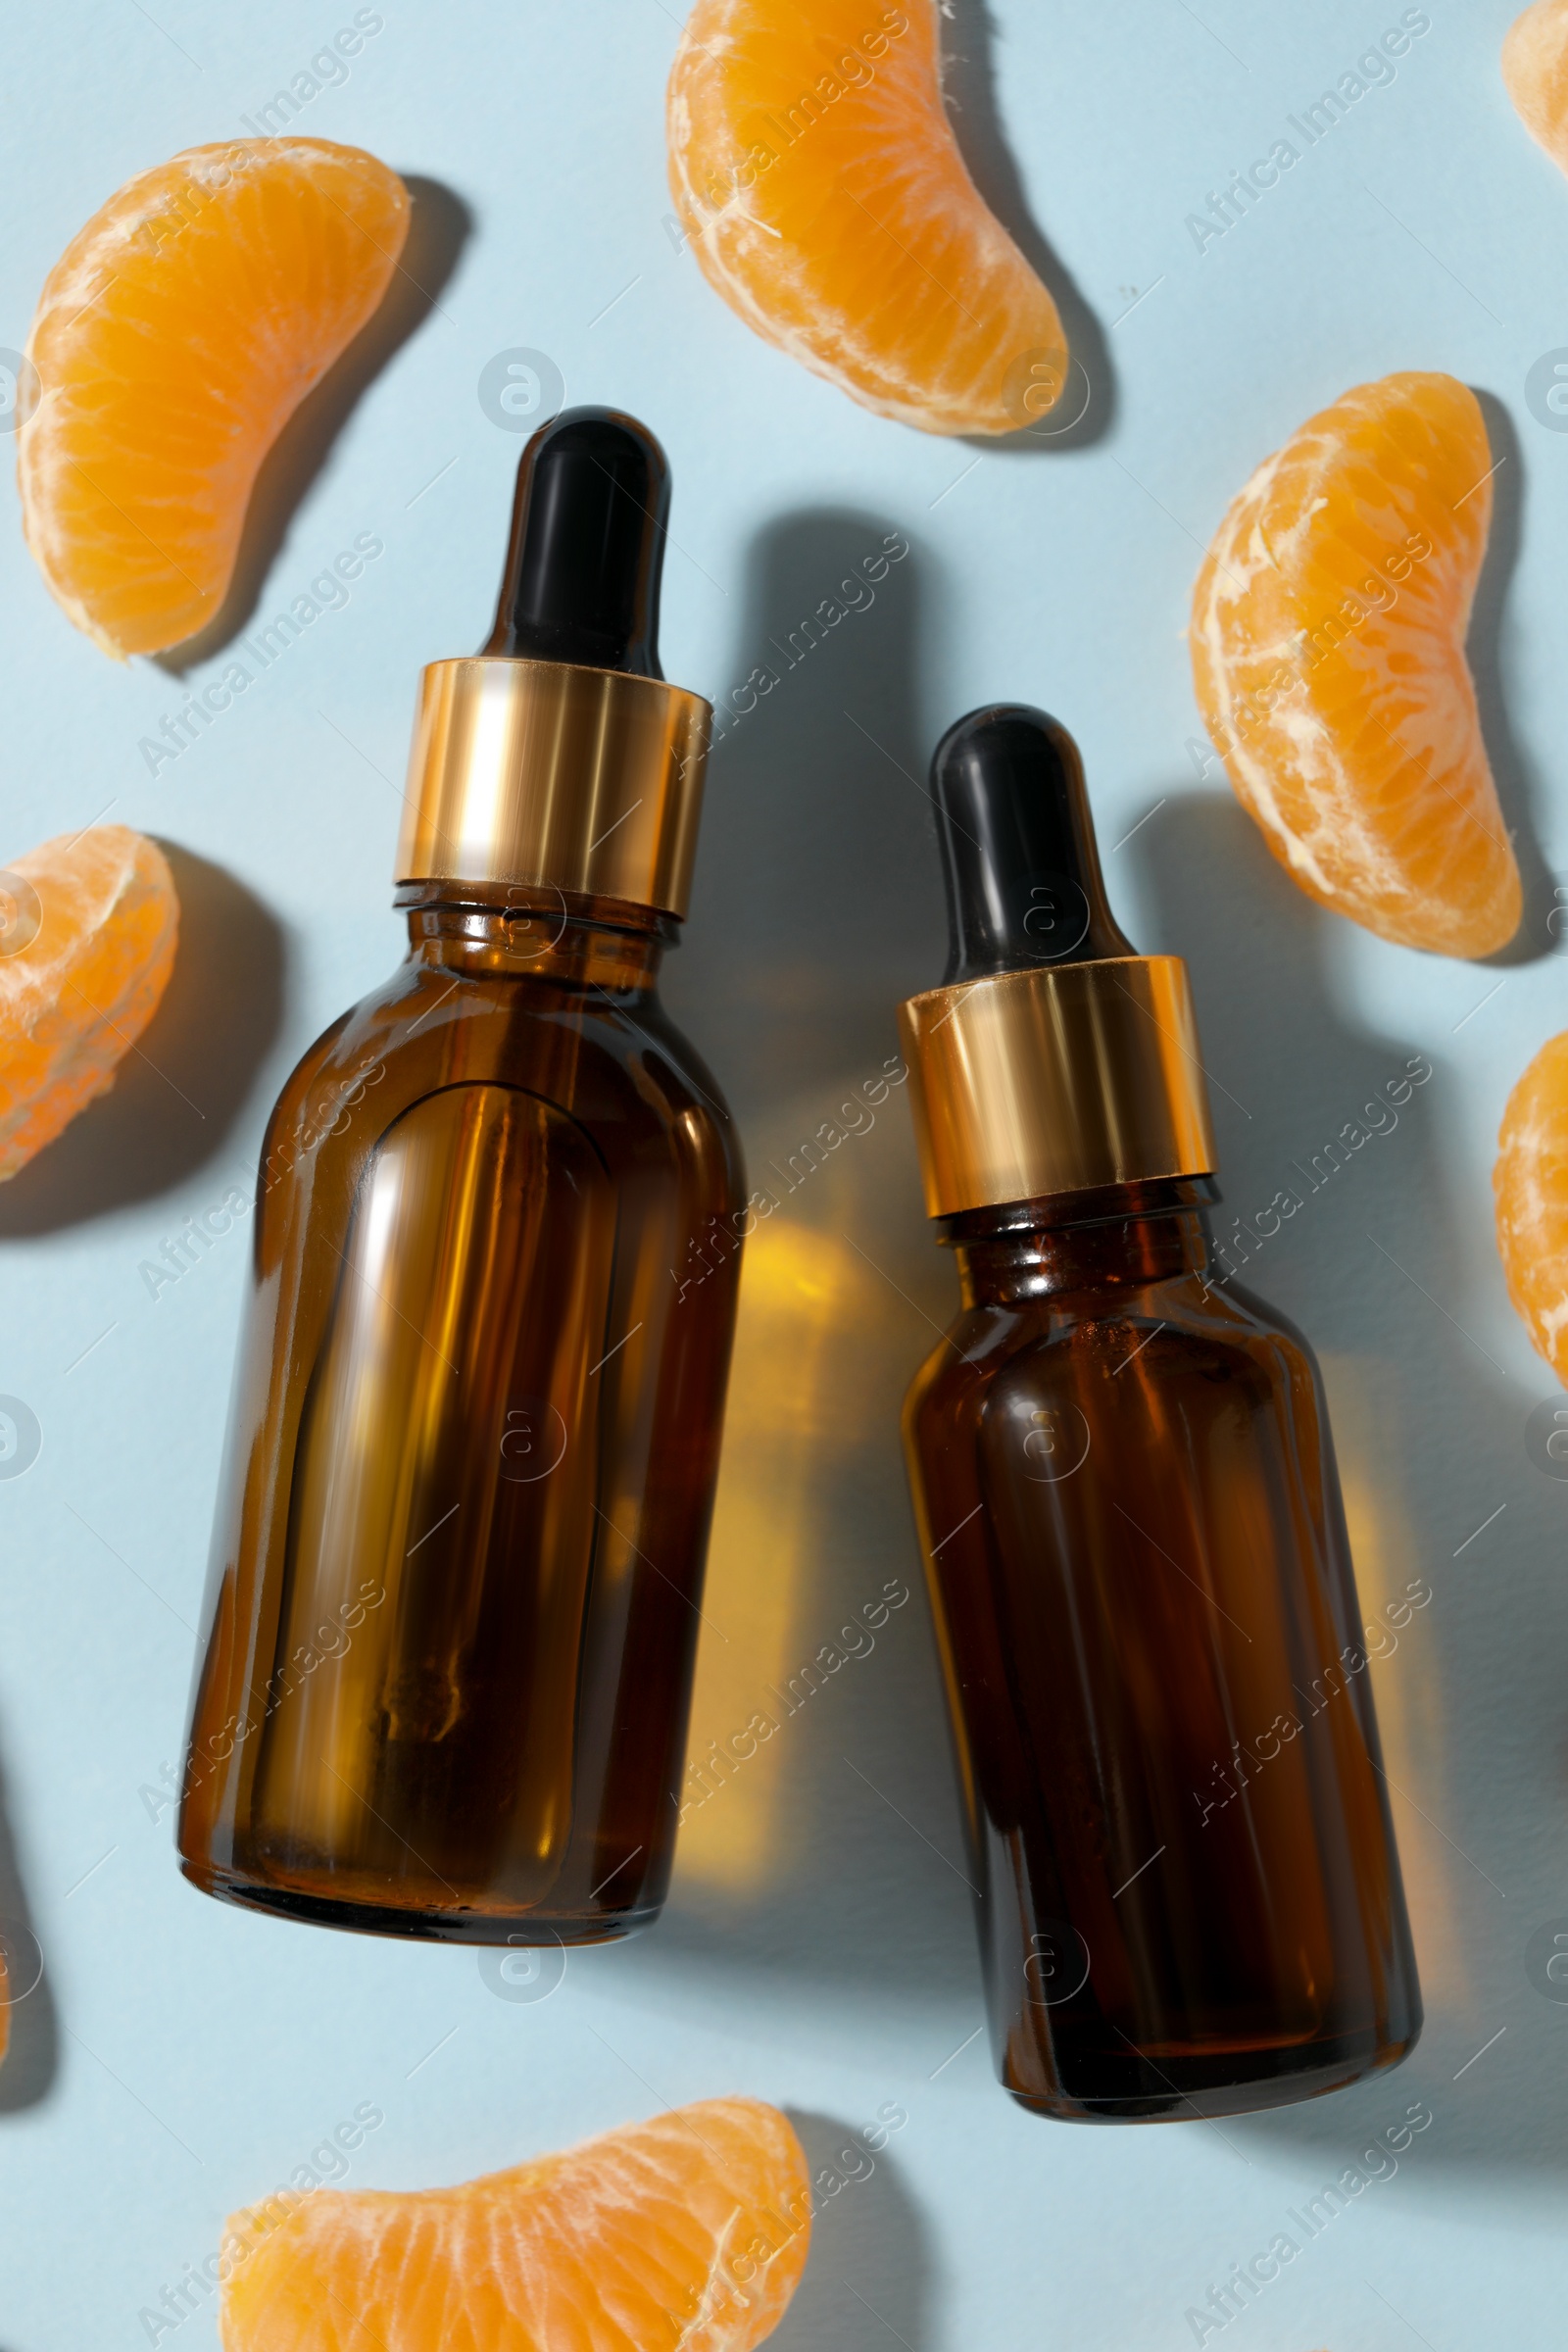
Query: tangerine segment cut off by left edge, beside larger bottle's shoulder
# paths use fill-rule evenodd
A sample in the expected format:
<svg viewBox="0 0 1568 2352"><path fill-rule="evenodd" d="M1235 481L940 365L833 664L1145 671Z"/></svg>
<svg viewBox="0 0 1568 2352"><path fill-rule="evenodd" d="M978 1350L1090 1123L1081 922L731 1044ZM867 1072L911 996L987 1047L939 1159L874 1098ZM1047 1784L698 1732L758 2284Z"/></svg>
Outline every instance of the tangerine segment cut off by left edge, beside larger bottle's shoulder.
<svg viewBox="0 0 1568 2352"><path fill-rule="evenodd" d="M0 873L0 1183L108 1094L176 936L169 861L129 826L61 835Z"/></svg>

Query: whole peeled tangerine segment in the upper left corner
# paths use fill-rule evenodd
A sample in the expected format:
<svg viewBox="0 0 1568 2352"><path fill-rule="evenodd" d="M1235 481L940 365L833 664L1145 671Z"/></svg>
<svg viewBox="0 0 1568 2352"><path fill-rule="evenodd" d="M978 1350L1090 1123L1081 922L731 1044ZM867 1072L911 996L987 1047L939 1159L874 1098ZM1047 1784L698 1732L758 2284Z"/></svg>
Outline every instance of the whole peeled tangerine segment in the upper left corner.
<svg viewBox="0 0 1568 2352"><path fill-rule="evenodd" d="M395 172L329 139L188 148L49 270L21 522L78 628L150 654L223 604L280 430L367 322L409 233Z"/></svg>

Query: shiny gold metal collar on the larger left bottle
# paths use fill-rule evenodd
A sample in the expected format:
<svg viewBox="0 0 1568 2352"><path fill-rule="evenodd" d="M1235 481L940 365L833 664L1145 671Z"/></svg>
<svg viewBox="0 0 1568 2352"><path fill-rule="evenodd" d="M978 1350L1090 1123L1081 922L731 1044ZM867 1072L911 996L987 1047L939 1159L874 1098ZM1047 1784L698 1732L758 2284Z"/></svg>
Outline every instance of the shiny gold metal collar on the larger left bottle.
<svg viewBox="0 0 1568 2352"><path fill-rule="evenodd" d="M712 708L661 677L475 654L421 682L397 882L522 882L684 917Z"/></svg>

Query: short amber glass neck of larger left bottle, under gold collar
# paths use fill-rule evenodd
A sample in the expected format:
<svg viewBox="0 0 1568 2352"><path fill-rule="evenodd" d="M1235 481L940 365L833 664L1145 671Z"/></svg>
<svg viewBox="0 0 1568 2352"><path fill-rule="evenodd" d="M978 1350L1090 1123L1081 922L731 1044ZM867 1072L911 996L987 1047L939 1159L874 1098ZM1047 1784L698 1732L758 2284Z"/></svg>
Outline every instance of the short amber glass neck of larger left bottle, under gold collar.
<svg viewBox="0 0 1568 2352"><path fill-rule="evenodd" d="M470 978L654 995L672 915L625 898L491 882L404 882L409 955Z"/></svg>

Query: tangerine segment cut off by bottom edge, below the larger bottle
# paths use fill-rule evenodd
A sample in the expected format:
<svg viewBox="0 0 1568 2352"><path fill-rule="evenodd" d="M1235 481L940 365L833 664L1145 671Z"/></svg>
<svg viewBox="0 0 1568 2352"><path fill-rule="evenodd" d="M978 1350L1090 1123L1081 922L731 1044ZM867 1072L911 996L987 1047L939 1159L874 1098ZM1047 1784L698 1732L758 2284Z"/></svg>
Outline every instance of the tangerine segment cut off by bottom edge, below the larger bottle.
<svg viewBox="0 0 1568 2352"><path fill-rule="evenodd" d="M788 2119L705 2098L456 2190L280 2192L223 2237L226 2352L750 2352L806 2265Z"/></svg>

